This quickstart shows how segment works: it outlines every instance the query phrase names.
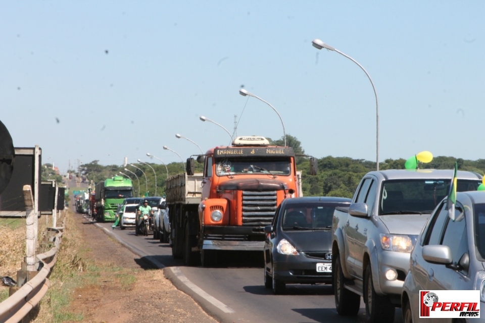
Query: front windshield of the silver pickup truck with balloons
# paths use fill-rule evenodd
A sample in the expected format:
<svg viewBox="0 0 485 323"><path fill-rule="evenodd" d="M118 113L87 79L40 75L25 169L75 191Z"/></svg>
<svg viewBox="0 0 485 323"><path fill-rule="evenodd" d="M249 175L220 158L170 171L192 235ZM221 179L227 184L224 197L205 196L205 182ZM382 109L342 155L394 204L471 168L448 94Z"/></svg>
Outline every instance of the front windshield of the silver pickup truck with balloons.
<svg viewBox="0 0 485 323"><path fill-rule="evenodd" d="M379 214L431 213L448 195L451 179L419 179L384 181ZM481 181L458 180L457 191L476 191Z"/></svg>

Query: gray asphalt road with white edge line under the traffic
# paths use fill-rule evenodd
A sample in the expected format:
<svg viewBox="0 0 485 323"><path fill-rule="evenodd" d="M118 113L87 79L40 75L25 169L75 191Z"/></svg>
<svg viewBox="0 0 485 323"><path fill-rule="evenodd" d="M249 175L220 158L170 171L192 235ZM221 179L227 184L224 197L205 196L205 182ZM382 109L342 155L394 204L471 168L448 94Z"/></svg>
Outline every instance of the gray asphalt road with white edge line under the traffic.
<svg viewBox="0 0 485 323"><path fill-rule="evenodd" d="M111 223L101 226L112 230ZM262 252L223 254L216 268L186 267L181 260L172 258L168 244L153 240L153 236L135 236L134 230L119 228L112 233L165 266L179 267L193 284L233 309L235 312L225 317L230 315L234 322L365 321L363 301L358 316L342 317L336 313L331 285L286 285L286 295L273 295L263 284ZM401 309L397 309L395 322L402 322L401 315Z"/></svg>

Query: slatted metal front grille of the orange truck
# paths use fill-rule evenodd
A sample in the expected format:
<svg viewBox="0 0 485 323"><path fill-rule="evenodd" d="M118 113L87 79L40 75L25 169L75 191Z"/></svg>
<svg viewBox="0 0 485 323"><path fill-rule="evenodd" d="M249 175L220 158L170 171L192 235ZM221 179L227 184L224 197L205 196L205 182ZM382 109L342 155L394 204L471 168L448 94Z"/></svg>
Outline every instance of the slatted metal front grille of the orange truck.
<svg viewBox="0 0 485 323"><path fill-rule="evenodd" d="M268 226L276 211L276 191L243 191L243 226Z"/></svg>

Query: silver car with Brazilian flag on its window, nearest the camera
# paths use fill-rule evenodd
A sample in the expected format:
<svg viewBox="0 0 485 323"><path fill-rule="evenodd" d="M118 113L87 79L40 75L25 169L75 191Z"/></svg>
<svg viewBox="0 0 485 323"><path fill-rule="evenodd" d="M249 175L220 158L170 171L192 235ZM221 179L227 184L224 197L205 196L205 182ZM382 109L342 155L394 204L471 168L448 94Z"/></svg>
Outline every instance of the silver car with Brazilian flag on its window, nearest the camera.
<svg viewBox="0 0 485 323"><path fill-rule="evenodd" d="M426 322L485 322L485 192L457 193L455 221L446 198L434 209L411 252L401 296L405 322L419 321L420 290L479 290L480 318Z"/></svg>

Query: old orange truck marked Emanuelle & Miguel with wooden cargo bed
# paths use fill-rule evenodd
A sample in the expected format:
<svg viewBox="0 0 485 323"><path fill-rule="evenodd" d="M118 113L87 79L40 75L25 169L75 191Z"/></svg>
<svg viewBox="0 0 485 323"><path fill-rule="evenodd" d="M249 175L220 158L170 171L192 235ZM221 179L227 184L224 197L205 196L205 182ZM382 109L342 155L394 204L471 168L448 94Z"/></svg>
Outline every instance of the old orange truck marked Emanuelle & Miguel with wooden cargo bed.
<svg viewBox="0 0 485 323"><path fill-rule="evenodd" d="M279 204L303 196L293 148L270 146L264 137L237 137L197 161L204 173L195 174L188 158L186 173L169 178L166 188L172 255L186 265L200 257L213 266L219 250L262 251L263 229ZM310 157L310 175L316 173Z"/></svg>

